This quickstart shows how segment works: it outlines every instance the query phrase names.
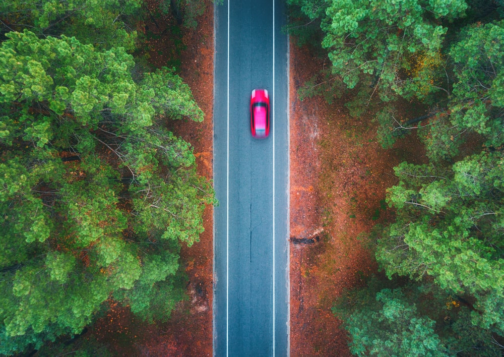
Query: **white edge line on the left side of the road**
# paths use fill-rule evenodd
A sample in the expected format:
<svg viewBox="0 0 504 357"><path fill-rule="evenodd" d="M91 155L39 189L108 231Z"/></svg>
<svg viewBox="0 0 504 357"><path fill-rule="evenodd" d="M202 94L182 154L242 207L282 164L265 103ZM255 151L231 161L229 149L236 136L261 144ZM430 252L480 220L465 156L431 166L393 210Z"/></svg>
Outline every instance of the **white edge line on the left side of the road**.
<svg viewBox="0 0 504 357"><path fill-rule="evenodd" d="M226 356L229 355L229 1L227 0Z"/></svg>

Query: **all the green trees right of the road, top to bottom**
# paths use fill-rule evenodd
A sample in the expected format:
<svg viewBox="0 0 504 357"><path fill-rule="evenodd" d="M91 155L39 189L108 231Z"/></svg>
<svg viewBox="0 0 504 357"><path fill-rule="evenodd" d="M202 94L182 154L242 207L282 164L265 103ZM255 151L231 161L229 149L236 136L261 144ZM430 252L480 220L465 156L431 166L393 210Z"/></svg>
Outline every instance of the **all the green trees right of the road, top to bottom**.
<svg viewBox="0 0 504 357"><path fill-rule="evenodd" d="M394 168L394 219L368 234L379 272L334 301L350 352L501 355L504 2L287 3L289 33L327 58L299 97L346 94L383 148L418 135L426 152Z"/></svg>

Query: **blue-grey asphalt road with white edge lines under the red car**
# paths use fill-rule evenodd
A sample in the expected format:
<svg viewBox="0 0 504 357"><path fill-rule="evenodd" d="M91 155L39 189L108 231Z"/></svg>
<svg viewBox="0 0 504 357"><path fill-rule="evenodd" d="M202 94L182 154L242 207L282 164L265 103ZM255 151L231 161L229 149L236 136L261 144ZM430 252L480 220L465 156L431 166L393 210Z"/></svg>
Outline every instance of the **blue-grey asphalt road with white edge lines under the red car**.
<svg viewBox="0 0 504 357"><path fill-rule="evenodd" d="M281 0L215 6L214 355L289 354L288 41ZM266 88L271 132L251 138Z"/></svg>

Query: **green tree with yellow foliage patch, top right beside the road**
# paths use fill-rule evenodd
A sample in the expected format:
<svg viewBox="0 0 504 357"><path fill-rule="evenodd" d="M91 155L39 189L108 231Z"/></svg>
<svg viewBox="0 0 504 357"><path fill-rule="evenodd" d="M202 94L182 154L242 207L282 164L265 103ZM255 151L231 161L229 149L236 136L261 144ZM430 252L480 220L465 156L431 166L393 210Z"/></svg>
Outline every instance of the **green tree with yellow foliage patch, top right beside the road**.
<svg viewBox="0 0 504 357"><path fill-rule="evenodd" d="M333 74L348 88L359 82L372 84L386 101L397 95L425 97L438 90L432 81L443 64L443 23L464 16L467 8L463 0L289 3L312 21L322 18L322 46Z"/></svg>

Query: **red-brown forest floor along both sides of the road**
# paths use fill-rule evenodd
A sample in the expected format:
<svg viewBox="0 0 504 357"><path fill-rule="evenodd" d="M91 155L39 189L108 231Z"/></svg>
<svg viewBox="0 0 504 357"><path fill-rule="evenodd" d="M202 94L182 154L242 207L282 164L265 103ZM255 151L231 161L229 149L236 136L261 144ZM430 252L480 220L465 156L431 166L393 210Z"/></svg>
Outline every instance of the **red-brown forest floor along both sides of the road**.
<svg viewBox="0 0 504 357"><path fill-rule="evenodd" d="M146 22L149 62L157 67L179 55L179 74L205 113L203 123L182 121L172 130L194 146L198 172L213 176L213 4L197 30L183 30L178 54L167 39L171 16ZM149 0L159 14L157 0ZM376 141L369 116L348 114L341 98L328 104L320 97L300 101L297 89L323 66L306 48L290 46L290 236L320 231L310 245L290 244L290 352L292 356L350 355L348 335L331 312L334 300L375 272L376 262L361 233L391 218L385 190L397 180L393 167L417 162L421 147L414 136L384 150ZM100 335L119 355L212 355L213 210L204 214L205 232L181 256L189 276L188 301L180 303L169 323L145 325L128 309L113 306L101 321ZM98 332L98 331L95 331Z"/></svg>

